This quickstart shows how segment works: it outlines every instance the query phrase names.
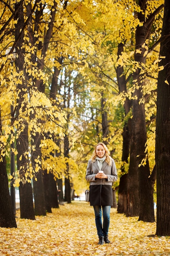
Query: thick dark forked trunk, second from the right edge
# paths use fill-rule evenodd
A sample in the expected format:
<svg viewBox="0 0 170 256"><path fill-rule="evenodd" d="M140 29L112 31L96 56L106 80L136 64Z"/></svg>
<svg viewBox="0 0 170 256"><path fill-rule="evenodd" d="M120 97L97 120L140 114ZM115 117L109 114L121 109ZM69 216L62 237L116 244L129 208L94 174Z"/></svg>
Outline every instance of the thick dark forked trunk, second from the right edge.
<svg viewBox="0 0 170 256"><path fill-rule="evenodd" d="M136 63L139 63L139 67L136 68L136 71L133 74L133 79L134 81L137 81L137 83L135 92L133 94L135 99L132 101L133 117L129 169L131 170L132 162L132 169L134 167L136 168L137 179L139 179L139 205L137 205L137 208L139 207L139 220L155 222L153 202L153 180L152 176L150 175L150 168L147 157L148 152L146 150L147 133L145 120L145 104L141 101L141 99L143 98L142 88L145 83L145 79L142 79L141 66L143 63L146 63L146 48L143 48L142 45L145 44L145 46L147 46L146 40L150 38L151 27L154 18L157 15L157 13L159 13L159 11L161 11L161 9L163 8L163 4L157 7L157 9L155 9L155 11L151 13L147 19L145 14L147 7L146 4L146 0L139 1L141 11L138 13L138 18L140 22L143 22L143 26L140 27L138 25L136 31L135 61ZM140 49L140 53L137 52L138 49ZM144 158L146 159L145 164L141 164L142 159ZM133 180L133 182L135 182L135 179Z"/></svg>

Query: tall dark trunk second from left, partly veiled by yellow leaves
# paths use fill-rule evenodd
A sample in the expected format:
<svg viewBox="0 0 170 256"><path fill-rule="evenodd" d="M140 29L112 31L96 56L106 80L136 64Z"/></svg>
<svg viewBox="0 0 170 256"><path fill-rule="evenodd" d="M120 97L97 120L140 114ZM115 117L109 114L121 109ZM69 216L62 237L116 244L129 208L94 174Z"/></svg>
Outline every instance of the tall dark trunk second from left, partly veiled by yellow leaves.
<svg viewBox="0 0 170 256"><path fill-rule="evenodd" d="M15 67L18 77L20 76L20 72L24 72L24 53L25 47L23 47L24 43L24 33L22 28L24 27L24 10L23 10L23 1L20 1L15 4L15 20L18 22L15 25ZM17 111L16 111L16 120L18 121L18 130L21 130L20 135L16 139L16 147L18 150L17 155L17 167L19 170L19 175L23 177L29 168L29 139L28 139L28 120L26 113L26 94L27 85L24 77L17 84L16 91L18 92L17 97ZM20 113L23 113L21 119ZM24 115L25 114L25 115ZM28 218L31 220L35 220L34 209L33 209L33 195L32 195L32 187L31 187L31 179L28 178L28 183L20 181L20 216L21 218Z"/></svg>

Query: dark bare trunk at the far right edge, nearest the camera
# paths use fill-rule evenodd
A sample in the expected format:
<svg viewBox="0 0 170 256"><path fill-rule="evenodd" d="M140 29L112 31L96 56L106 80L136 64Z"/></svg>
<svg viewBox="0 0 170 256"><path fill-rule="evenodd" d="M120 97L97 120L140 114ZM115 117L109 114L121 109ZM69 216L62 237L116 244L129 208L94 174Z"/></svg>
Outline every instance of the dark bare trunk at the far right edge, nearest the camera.
<svg viewBox="0 0 170 256"><path fill-rule="evenodd" d="M170 1L165 0L157 89L157 236L170 236Z"/></svg>

